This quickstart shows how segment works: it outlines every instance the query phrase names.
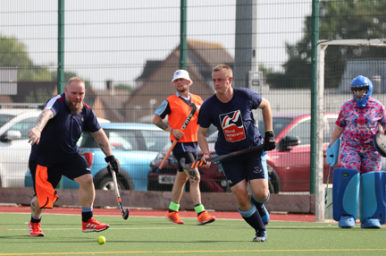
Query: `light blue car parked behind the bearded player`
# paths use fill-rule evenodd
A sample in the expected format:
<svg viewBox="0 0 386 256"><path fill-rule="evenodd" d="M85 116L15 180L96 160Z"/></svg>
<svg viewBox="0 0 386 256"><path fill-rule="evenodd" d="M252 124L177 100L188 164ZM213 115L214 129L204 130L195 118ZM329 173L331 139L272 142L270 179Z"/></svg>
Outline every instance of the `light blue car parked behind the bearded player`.
<svg viewBox="0 0 386 256"><path fill-rule="evenodd" d="M120 161L117 175L121 190L147 191L147 174L150 162L158 152L172 146L170 133L154 124L110 123L101 124L113 149L113 155ZM113 190L113 178L107 173L105 154L89 132L83 132L78 141L83 156L88 161L96 189ZM27 172L25 186L32 186L30 172ZM57 188L78 189L80 185L67 177L62 178Z"/></svg>

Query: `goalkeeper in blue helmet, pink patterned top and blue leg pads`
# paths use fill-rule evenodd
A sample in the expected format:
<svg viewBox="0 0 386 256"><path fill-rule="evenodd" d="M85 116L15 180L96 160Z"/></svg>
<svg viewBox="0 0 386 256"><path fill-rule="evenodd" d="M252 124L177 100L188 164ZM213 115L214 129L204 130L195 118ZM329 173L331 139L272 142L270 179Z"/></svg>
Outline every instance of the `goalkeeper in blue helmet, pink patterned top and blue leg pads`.
<svg viewBox="0 0 386 256"><path fill-rule="evenodd" d="M386 215L386 172L381 171L386 152L374 138L382 128L386 131L385 107L371 98L373 84L367 77L357 76L350 88L353 98L341 107L327 148L327 164L335 166L339 154L341 161L332 179L333 219L340 227L353 227L359 209L362 228L381 228Z"/></svg>

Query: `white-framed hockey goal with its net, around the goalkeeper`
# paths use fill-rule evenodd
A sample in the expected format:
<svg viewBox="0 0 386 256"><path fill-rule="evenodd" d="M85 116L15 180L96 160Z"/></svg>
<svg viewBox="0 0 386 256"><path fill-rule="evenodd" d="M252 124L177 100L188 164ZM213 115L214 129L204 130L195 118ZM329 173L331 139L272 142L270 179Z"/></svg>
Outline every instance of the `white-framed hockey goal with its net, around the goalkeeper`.
<svg viewBox="0 0 386 256"><path fill-rule="evenodd" d="M335 128L335 124L323 125L323 113L340 112L343 103L352 98L350 82L358 75L373 82L372 98L386 105L386 38L321 40L317 50L315 214L316 221L322 222L332 218L332 172L326 189L329 166L325 164L323 148L326 141L331 141Z"/></svg>

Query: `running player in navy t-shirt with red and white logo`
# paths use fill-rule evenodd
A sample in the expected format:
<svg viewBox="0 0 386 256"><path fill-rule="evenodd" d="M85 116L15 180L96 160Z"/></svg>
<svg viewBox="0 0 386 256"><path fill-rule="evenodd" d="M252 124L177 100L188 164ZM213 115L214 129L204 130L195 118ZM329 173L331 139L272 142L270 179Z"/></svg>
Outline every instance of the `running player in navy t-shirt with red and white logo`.
<svg viewBox="0 0 386 256"><path fill-rule="evenodd" d="M267 239L265 225L269 223L269 214L263 203L269 199L268 171L265 155L267 150L275 148L271 105L253 90L232 88L233 73L231 67L218 65L212 72L216 93L206 99L198 113L198 145L204 152L205 160L210 158L206 132L210 124L218 129L215 143L216 155L225 155L240 149L261 145L263 138L252 115L252 109L260 108L263 113L265 134L264 149L226 158L221 161L224 175L239 206L239 213L247 223L255 228L254 242ZM210 166L207 162L206 167ZM253 194L249 196L248 180Z"/></svg>

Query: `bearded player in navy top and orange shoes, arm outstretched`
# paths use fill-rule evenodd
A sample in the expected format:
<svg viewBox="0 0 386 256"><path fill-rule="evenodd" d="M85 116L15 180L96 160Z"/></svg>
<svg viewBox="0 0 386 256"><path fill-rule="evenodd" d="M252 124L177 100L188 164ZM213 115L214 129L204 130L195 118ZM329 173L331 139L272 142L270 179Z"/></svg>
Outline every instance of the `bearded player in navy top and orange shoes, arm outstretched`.
<svg viewBox="0 0 386 256"><path fill-rule="evenodd" d="M62 175L80 183L80 205L83 232L99 232L109 225L93 218L95 189L93 176L86 159L78 152L77 142L81 132L90 132L105 153L105 161L119 173L119 161L114 158L110 142L96 120L91 107L83 103L85 82L73 77L64 93L51 98L38 116L36 126L28 132L32 145L29 169L35 196L31 201L29 235L44 236L41 215L46 208L53 208L59 198L55 187ZM111 172L111 168L108 168Z"/></svg>

